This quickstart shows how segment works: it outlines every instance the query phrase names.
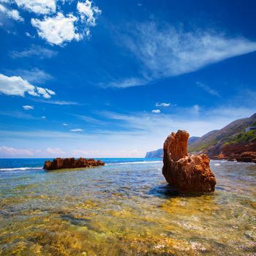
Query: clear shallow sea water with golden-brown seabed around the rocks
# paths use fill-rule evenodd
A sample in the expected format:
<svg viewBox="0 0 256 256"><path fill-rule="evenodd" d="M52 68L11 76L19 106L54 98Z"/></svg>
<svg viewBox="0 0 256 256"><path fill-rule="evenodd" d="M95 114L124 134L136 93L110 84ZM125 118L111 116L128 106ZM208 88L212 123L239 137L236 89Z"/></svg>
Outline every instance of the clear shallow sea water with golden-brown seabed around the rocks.
<svg viewBox="0 0 256 256"><path fill-rule="evenodd" d="M256 165L211 161L211 195L170 194L162 159L42 170L0 159L0 255L256 255Z"/></svg>

